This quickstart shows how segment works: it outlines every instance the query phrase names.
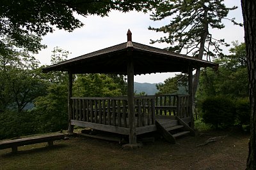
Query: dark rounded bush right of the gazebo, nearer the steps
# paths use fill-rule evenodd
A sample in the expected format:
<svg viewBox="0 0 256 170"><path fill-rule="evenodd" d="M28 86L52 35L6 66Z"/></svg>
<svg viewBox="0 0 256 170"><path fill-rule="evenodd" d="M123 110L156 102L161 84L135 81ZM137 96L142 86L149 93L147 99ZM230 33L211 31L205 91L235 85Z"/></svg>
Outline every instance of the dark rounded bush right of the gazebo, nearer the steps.
<svg viewBox="0 0 256 170"><path fill-rule="evenodd" d="M234 102L227 97L209 97L202 103L203 122L215 128L234 125L236 108Z"/></svg>

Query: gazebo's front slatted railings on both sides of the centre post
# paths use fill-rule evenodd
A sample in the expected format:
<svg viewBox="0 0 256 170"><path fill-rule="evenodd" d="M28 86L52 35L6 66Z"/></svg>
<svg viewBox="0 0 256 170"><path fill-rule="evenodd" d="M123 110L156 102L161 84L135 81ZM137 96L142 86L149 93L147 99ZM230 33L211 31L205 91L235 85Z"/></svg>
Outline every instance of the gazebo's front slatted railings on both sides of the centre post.
<svg viewBox="0 0 256 170"><path fill-rule="evenodd" d="M72 120L129 127L127 97L71 97ZM155 124L155 97L134 97L135 125Z"/></svg>

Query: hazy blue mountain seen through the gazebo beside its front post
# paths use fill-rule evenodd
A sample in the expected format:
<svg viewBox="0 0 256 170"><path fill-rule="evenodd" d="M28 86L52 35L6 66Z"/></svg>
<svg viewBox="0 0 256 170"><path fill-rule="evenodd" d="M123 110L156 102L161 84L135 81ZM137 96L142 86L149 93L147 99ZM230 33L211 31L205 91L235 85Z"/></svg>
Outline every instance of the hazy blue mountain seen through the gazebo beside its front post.
<svg viewBox="0 0 256 170"><path fill-rule="evenodd" d="M139 94L145 92L147 95L155 95L158 90L156 89L157 83L138 83L134 82L134 92Z"/></svg>

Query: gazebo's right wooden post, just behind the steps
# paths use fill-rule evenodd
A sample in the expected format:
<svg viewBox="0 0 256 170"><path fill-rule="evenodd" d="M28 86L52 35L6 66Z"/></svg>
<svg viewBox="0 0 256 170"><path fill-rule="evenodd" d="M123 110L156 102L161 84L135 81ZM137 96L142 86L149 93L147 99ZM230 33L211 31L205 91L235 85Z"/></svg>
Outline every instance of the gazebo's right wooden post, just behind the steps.
<svg viewBox="0 0 256 170"><path fill-rule="evenodd" d="M188 93L189 93L189 116L191 117L191 128L194 129L193 116L193 68L188 68Z"/></svg>

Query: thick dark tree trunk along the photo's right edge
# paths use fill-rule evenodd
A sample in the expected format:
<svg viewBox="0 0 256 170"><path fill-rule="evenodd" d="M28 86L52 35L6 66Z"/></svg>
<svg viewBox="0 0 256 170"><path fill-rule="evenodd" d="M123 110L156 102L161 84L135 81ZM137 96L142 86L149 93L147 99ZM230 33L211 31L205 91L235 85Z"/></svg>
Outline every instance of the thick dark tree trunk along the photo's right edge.
<svg viewBox="0 0 256 170"><path fill-rule="evenodd" d="M249 153L246 169L256 169L256 1L241 0L251 106Z"/></svg>

